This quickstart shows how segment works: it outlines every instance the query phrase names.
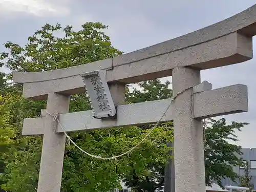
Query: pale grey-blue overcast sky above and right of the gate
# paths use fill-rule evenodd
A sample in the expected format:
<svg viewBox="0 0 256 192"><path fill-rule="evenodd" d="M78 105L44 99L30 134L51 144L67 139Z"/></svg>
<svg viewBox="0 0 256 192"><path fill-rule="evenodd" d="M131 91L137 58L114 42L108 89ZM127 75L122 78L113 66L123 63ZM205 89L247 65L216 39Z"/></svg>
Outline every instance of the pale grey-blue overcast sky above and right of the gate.
<svg viewBox="0 0 256 192"><path fill-rule="evenodd" d="M256 0L0 0L0 52L5 50L2 44L6 41L25 45L28 36L45 23L79 29L86 22L102 22L109 26L106 33L113 46L127 53L217 23L255 3ZM225 118L250 123L238 133L237 144L251 148L256 148L255 64L255 59L251 59L201 73L202 81L208 80L214 89L237 83L248 86L249 112ZM3 68L0 71L7 72Z"/></svg>

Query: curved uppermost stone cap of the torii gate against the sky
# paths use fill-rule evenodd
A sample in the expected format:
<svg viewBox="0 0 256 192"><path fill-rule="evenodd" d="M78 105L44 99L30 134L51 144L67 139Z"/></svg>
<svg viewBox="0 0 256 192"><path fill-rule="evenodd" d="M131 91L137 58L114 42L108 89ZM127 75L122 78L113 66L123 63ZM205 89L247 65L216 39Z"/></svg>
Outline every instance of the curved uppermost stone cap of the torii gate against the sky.
<svg viewBox="0 0 256 192"><path fill-rule="evenodd" d="M253 5L252 7L230 18L222 20L219 23L210 25L203 29L161 42L144 49L120 55L113 58L113 62L110 61L110 59L105 59L97 61L97 65L95 65L95 63L88 63L86 65L47 72L14 72L13 79L14 82L27 83L65 78L73 75L79 75L81 72L121 66L127 63L132 63L150 57L182 50L191 46L202 44L206 41L220 38L233 32L239 32L240 34L248 37L256 35L256 5Z"/></svg>

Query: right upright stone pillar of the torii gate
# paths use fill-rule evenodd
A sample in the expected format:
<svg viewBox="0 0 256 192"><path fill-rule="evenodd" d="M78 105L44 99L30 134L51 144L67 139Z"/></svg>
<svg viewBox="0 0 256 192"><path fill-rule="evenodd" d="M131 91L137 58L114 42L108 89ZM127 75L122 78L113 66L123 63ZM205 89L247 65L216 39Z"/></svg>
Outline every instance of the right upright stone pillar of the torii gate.
<svg viewBox="0 0 256 192"><path fill-rule="evenodd" d="M173 94L200 83L200 71L173 70ZM205 192L202 120L193 119L193 88L174 101L175 191Z"/></svg>

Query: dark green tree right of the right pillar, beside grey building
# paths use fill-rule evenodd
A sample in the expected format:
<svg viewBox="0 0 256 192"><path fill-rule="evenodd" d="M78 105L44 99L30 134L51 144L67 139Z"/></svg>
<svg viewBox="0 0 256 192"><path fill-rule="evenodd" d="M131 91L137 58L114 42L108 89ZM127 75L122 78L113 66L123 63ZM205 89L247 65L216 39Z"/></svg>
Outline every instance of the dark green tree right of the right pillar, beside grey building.
<svg viewBox="0 0 256 192"><path fill-rule="evenodd" d="M241 146L230 144L228 140L238 141L235 131L240 131L248 123L234 122L227 124L224 118L215 120L208 119L205 129L205 180L206 184L221 183L222 178L229 178L236 181L238 174L233 172L233 166L243 165L240 158L242 155Z"/></svg>

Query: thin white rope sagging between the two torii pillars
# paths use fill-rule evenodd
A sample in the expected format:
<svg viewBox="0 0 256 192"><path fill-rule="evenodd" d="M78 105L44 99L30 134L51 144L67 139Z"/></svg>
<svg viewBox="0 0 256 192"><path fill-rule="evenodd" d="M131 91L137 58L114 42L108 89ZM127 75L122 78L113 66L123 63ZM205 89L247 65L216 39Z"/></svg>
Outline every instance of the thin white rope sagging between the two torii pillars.
<svg viewBox="0 0 256 192"><path fill-rule="evenodd" d="M190 89L190 88L193 88L193 86L188 87L188 88L184 89L183 91L177 93L177 95L174 96L174 97L172 98L172 100L170 100L170 104L167 106L167 108L166 108L166 110L164 111L164 113L163 113L163 115L161 116L161 118L157 121L157 123L155 124L155 126L145 135L145 137L144 137L138 144L136 144L134 147L132 147L129 151L126 151L125 153L122 153L121 155L117 155L117 156L113 156L113 157L100 157L100 156L92 155L92 154L90 154L90 153L84 151L84 150L83 150L82 148L80 148L80 147L70 138L70 136L66 133L65 128L63 127L63 125L62 125L62 124L60 123L60 121L59 121L59 118L58 118L58 115L59 115L59 114L54 114L54 115L53 115L53 114L48 113L47 111L46 111L46 113L47 113L48 115L50 115L50 116L53 117L53 121L57 120L57 122L59 123L59 126L61 127L63 133L66 135L66 137L68 138L68 140L69 140L71 143L73 143L81 152L83 152L84 154L86 154L86 155L88 155L88 156L90 156L90 157L94 157L94 158L97 158L97 159L115 159L115 160L116 160L116 166L117 166L117 158L122 157L122 156L124 156L124 155L126 155L126 154L129 155L130 152L132 152L137 146L139 146L139 145L153 132L153 130L154 130L154 129L157 127L157 125L160 123L160 121L162 120L162 118L165 116L166 112L167 112L168 109L170 108L170 105L172 104L173 100L174 100L178 95L182 94L183 92L185 92L186 90L188 90L188 89Z"/></svg>

